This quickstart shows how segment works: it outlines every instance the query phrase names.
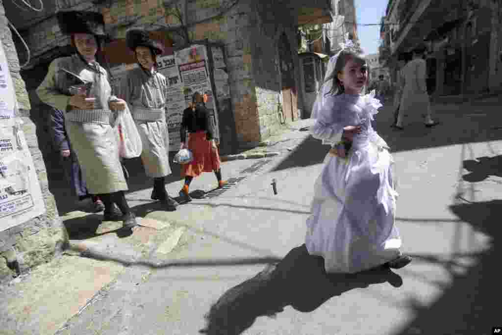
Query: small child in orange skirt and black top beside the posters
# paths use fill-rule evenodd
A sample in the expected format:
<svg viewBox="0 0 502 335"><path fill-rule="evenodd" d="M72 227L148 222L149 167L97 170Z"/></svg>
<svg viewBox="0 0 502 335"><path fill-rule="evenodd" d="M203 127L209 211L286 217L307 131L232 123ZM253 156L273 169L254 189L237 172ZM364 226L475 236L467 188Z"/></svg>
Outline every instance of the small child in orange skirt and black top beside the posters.
<svg viewBox="0 0 502 335"><path fill-rule="evenodd" d="M189 149L193 153L193 161L182 165L181 176L185 177L185 184L180 191L183 201L190 201L189 187L194 177L198 177L202 172L212 172L218 180L218 187L227 184L221 179L220 158L216 141L213 139L213 132L209 122L209 110L204 102L207 97L202 97L199 92L192 96L192 106L183 111L181 122L181 149ZM187 133L188 136L187 140Z"/></svg>

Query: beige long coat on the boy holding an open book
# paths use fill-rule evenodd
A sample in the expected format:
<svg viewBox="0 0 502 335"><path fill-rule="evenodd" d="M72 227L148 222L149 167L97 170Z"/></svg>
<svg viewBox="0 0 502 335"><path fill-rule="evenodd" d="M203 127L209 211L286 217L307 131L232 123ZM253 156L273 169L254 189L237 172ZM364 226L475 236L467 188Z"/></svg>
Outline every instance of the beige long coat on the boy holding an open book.
<svg viewBox="0 0 502 335"><path fill-rule="evenodd" d="M89 193L125 191L128 185L118 156L115 132L111 127L114 115L108 107L112 97L111 88L107 72L97 63L94 64L96 70L78 55L55 59L37 88L37 94L43 102L65 111L68 137L80 162ZM96 109L69 110L68 87L79 82L63 72L63 68L94 83Z"/></svg>

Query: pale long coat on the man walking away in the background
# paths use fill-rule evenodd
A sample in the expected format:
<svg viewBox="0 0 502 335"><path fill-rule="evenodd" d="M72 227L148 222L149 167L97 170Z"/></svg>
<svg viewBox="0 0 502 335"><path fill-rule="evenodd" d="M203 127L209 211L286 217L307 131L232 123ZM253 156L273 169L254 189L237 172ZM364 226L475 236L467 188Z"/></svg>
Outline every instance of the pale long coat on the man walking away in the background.
<svg viewBox="0 0 502 335"><path fill-rule="evenodd" d="M425 60L416 58L408 62L401 71L404 82L399 109L400 118L404 115L412 119L430 117L431 105L425 81L427 76Z"/></svg>

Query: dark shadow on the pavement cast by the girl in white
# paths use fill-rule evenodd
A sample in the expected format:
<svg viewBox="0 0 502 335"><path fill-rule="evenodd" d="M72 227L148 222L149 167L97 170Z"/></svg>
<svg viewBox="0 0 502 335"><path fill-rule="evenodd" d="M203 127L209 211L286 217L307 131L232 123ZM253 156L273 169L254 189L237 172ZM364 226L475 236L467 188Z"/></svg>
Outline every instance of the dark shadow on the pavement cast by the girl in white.
<svg viewBox="0 0 502 335"><path fill-rule="evenodd" d="M214 303L200 333L238 335L260 316L274 316L291 305L311 312L334 296L354 288L389 282L394 287L402 278L389 268L379 267L356 274L326 274L324 259L311 256L305 245L292 249L279 263L232 287ZM307 289L308 288L308 289Z"/></svg>

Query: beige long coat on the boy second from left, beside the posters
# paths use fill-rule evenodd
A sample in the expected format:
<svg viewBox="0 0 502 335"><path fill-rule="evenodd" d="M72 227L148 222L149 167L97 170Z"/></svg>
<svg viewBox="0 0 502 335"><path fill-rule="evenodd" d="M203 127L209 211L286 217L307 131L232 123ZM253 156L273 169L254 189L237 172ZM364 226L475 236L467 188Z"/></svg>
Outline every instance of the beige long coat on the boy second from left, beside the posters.
<svg viewBox="0 0 502 335"><path fill-rule="evenodd" d="M138 67L128 72L120 89L138 127L143 142L141 160L147 176L151 178L171 174L166 123L167 88L164 75L157 71L148 74ZM159 112L160 119L157 117Z"/></svg>

